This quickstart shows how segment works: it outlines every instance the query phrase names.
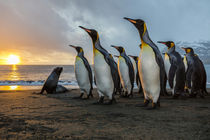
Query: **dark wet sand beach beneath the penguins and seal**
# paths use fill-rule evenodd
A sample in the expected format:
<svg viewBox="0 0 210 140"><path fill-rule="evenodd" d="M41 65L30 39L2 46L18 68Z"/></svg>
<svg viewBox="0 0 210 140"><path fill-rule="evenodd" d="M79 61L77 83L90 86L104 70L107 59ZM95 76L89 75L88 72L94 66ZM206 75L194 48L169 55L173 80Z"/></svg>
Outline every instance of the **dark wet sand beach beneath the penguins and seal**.
<svg viewBox="0 0 210 140"><path fill-rule="evenodd" d="M96 91L90 100L73 99L78 89L37 92L0 92L0 139L210 139L210 95L187 100L161 96L161 108L146 110L135 107L143 103L139 94L117 96L114 105L93 105Z"/></svg>

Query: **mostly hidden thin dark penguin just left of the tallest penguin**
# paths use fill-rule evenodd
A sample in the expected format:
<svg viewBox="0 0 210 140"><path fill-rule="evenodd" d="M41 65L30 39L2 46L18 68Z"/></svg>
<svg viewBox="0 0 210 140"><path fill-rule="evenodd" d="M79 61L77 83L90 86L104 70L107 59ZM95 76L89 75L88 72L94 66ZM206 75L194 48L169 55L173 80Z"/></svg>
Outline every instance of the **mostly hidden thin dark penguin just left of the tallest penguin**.
<svg viewBox="0 0 210 140"><path fill-rule="evenodd" d="M133 56L133 55L128 55L131 57L131 59L133 59L135 61L135 65L136 65L136 70L135 70L135 75L136 75L136 84L138 86L138 93L142 92L142 86L141 86L141 81L140 81L140 77L139 77L139 70L138 70L138 61L139 61L139 57L138 56Z"/></svg>

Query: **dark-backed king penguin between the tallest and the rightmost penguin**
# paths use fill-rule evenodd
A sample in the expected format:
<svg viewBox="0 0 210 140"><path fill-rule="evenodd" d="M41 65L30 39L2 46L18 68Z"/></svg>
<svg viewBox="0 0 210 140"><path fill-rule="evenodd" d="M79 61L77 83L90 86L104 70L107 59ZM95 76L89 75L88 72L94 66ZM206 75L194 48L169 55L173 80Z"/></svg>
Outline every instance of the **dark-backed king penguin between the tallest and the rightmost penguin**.
<svg viewBox="0 0 210 140"><path fill-rule="evenodd" d="M169 57L170 68L167 68L167 76L169 85L172 88L172 95L174 98L178 96L184 96L185 87L185 66L181 55L175 50L175 44L173 41L158 41L158 43L164 44L168 47L165 55ZM167 58L168 59L168 58ZM168 66L168 65L167 65Z"/></svg>

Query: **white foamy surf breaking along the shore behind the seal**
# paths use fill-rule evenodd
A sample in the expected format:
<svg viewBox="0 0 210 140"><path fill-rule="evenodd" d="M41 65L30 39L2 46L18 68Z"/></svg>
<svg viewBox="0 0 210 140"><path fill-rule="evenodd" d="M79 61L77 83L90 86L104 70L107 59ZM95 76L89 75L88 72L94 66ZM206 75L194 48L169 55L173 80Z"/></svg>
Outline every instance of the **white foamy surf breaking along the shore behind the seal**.
<svg viewBox="0 0 210 140"><path fill-rule="evenodd" d="M24 80L19 80L19 81L0 81L0 86L10 86L10 85L17 85L17 86L42 86L44 84L44 80L38 80L38 81L24 81ZM59 85L77 85L76 81L65 81L65 80L60 80L58 81Z"/></svg>

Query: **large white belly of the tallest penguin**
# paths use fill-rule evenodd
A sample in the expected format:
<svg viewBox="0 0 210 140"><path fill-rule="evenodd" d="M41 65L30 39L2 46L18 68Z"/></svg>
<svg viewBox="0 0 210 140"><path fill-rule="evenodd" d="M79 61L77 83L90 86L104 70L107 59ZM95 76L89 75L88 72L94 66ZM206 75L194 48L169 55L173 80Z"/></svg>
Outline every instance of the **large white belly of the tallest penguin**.
<svg viewBox="0 0 210 140"><path fill-rule="evenodd" d="M160 68L152 48L145 46L140 52L139 75L145 98L157 101L160 94Z"/></svg>

